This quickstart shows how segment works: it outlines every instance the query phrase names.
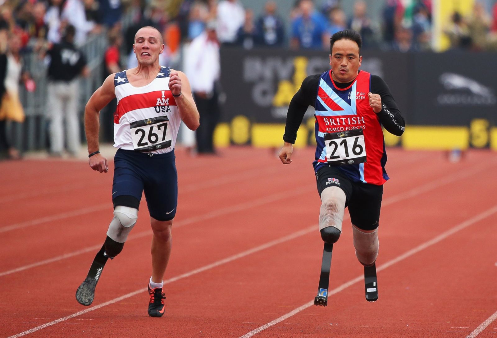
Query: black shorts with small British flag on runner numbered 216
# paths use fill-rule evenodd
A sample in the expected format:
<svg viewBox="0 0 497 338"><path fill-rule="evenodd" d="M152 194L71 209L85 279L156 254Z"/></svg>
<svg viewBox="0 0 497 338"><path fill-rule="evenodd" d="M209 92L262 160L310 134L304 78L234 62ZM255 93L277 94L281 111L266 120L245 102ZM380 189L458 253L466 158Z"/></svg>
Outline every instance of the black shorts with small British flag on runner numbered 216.
<svg viewBox="0 0 497 338"><path fill-rule="evenodd" d="M362 230L378 228L380 221L383 185L351 181L335 167L324 166L316 173L318 192L336 186L345 193L345 207L348 207L350 221Z"/></svg>

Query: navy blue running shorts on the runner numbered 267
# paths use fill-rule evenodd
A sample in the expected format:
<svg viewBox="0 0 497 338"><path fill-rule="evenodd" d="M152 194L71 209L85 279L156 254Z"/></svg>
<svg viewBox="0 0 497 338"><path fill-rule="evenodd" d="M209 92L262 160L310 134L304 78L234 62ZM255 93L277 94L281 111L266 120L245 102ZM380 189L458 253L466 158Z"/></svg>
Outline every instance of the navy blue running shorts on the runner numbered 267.
<svg viewBox="0 0 497 338"><path fill-rule="evenodd" d="M114 207L124 205L138 209L142 192L145 192L151 217L158 221L174 218L178 202L174 150L166 154L152 154L118 149L114 166Z"/></svg>

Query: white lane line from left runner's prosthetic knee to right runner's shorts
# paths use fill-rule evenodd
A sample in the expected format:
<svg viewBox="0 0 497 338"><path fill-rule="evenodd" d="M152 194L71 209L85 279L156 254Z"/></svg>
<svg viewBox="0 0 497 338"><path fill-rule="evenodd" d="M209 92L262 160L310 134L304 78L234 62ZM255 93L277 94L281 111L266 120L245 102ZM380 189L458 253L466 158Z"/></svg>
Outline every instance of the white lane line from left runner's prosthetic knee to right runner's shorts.
<svg viewBox="0 0 497 338"><path fill-rule="evenodd" d="M309 191L314 190L314 189L315 189L314 187L310 187L309 185L306 185L305 187L301 187L301 188L297 188L297 189L293 189L293 190L289 190L289 191L285 191L285 192L280 192L280 193L266 196L263 198L255 199L253 201L232 205L232 206L227 207L227 208L217 209L215 211L211 211L211 212L208 212L205 214L201 214L201 215L190 217L190 218L187 218L187 219L184 219L181 221L177 221L174 223L174 228L178 228L181 226L185 226L185 225L200 222L200 221L205 221L205 220L210 219L210 218L215 218L215 217L230 214L233 212L242 211L242 210L254 208L257 206L265 205L267 203L275 202L275 201L278 201L281 199L297 196L297 195L303 194L305 192L309 192ZM152 235L152 230L146 230L146 231L142 231L142 232L139 232L136 234L132 234L128 237L128 242L130 240L142 238L142 237L149 236L149 235ZM20 266L20 267L11 269L11 270L3 271L3 272L0 272L0 277L11 274L11 273L27 270L27 269L32 268L32 267L36 267L36 266L40 266L40 265L44 265L44 264L48 264L48 263L53 263L53 262L58 261L58 260L70 258L70 257L76 256L78 254L85 254L85 253L90 252L90 251L98 250L101 247L102 247L102 245L100 244L100 245L92 246L89 248L84 248L84 249L81 249L81 250L78 250L78 251L75 251L75 252L72 252L69 254L63 254L63 255L60 255L57 257L45 259L45 260L38 261L38 262L35 262L32 264Z"/></svg>

